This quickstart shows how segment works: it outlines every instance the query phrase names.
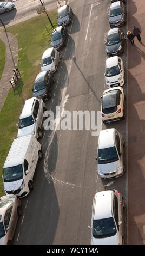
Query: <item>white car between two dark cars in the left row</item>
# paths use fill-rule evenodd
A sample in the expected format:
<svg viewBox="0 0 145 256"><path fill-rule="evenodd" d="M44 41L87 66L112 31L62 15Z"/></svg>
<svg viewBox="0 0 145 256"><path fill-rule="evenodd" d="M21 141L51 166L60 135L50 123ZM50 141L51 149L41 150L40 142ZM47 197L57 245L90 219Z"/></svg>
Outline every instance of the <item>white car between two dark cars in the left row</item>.
<svg viewBox="0 0 145 256"><path fill-rule="evenodd" d="M50 71L51 73L56 72L61 59L60 52L53 47L48 48L42 56L41 71Z"/></svg>

